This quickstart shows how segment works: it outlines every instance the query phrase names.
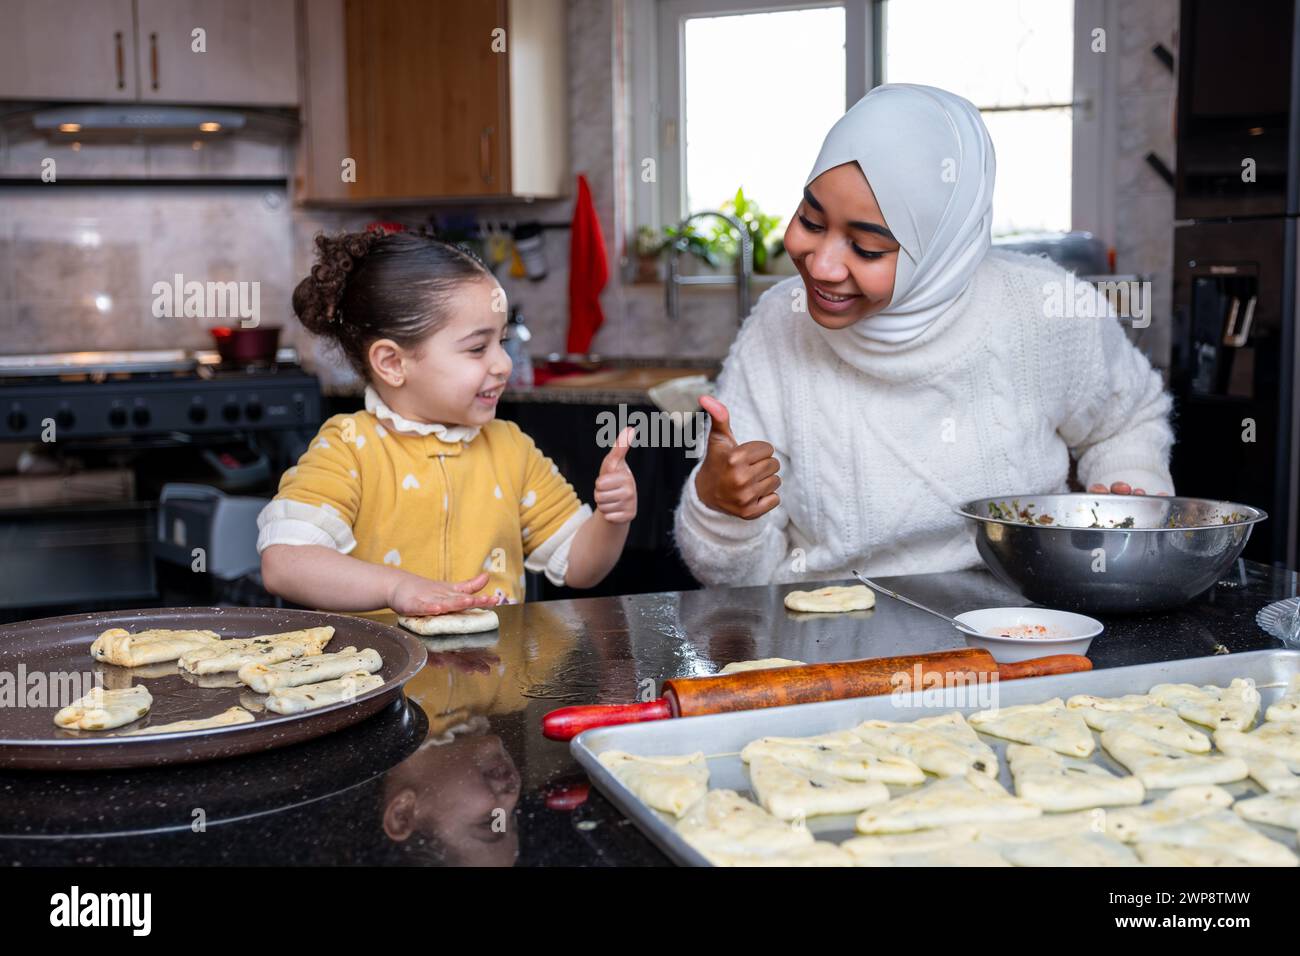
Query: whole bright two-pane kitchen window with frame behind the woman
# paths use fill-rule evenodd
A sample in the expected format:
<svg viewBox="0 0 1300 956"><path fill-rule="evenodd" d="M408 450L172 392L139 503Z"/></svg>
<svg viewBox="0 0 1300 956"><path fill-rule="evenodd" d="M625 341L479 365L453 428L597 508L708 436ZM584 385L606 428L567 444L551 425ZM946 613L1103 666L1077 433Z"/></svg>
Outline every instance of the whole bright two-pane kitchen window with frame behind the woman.
<svg viewBox="0 0 1300 956"><path fill-rule="evenodd" d="M982 109L997 150L994 235L1097 229L1102 142L1091 103L1078 108L1076 87L1095 83L1101 69L1086 43L1098 8L1097 0L637 4L630 36L654 35L658 51L634 43L633 150L656 157L656 169L647 185L640 168L634 221L673 225L718 208L737 186L785 220L835 120L878 83L911 82Z"/></svg>

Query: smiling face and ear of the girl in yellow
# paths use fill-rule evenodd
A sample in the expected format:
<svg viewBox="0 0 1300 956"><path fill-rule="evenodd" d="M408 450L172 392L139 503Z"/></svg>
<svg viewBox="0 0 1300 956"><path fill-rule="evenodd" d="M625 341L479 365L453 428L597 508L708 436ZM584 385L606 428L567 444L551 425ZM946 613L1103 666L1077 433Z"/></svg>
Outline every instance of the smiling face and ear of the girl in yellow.
<svg viewBox="0 0 1300 956"><path fill-rule="evenodd" d="M447 320L417 349L390 338L370 343L374 388L393 411L412 421L485 425L510 378L506 294L484 276L448 293Z"/></svg>

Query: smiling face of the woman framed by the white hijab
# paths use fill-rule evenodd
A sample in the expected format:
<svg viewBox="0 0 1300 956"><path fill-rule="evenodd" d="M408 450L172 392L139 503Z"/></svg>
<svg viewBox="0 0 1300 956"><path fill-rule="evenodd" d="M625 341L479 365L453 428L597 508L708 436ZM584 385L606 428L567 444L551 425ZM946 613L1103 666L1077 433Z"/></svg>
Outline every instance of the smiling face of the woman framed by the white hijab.
<svg viewBox="0 0 1300 956"><path fill-rule="evenodd" d="M898 241L857 163L827 169L809 183L785 229L785 251L818 325L846 328L893 298Z"/></svg>

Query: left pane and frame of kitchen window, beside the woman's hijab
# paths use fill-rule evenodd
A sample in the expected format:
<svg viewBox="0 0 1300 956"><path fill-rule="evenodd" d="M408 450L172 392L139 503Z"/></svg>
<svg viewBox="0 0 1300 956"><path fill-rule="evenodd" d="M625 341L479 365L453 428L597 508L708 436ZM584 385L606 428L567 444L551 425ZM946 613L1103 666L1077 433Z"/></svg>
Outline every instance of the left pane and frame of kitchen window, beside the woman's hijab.
<svg viewBox="0 0 1300 956"><path fill-rule="evenodd" d="M673 225L737 189L784 221L826 131L867 90L870 0L660 0L656 13L655 108L634 105L633 137L659 157L658 203L636 196L637 221Z"/></svg>

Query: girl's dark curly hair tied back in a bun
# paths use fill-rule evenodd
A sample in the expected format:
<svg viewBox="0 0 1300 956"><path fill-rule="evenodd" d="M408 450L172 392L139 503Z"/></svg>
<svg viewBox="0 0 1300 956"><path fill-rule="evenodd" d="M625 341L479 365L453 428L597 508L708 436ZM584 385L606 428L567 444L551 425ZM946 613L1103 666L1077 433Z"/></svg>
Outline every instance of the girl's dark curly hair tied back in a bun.
<svg viewBox="0 0 1300 956"><path fill-rule="evenodd" d="M428 233L320 234L316 264L294 289L303 326L333 339L348 364L370 381L370 343L391 338L406 349L447 320L447 299L465 281L491 278L473 252Z"/></svg>

